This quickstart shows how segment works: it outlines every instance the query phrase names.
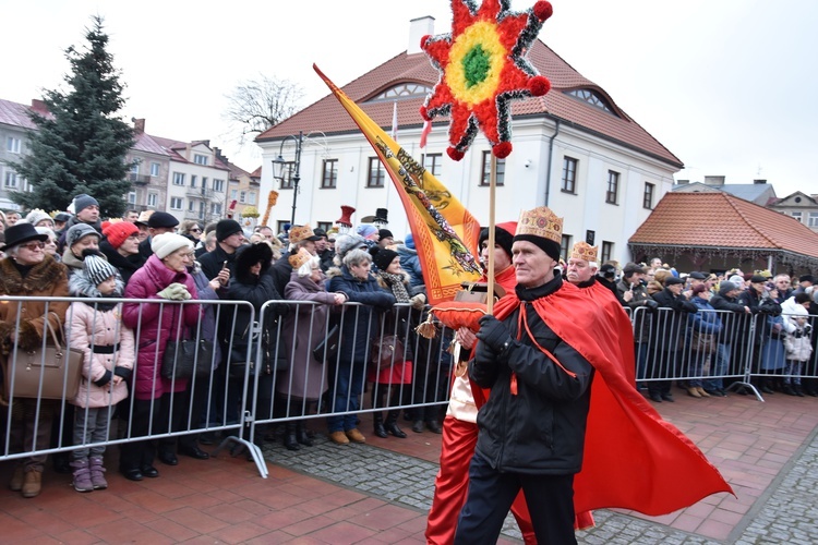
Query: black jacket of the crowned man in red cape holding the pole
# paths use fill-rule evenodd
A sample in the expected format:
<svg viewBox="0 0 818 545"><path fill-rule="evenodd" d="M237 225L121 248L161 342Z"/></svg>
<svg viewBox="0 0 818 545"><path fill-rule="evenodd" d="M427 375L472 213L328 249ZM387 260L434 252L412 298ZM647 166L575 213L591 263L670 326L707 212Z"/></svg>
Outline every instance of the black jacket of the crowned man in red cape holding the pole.
<svg viewBox="0 0 818 545"><path fill-rule="evenodd" d="M503 324L516 339L518 316L525 311L537 343L576 378L555 365L525 332L500 354L478 342L469 362L471 378L480 387L491 388L489 401L478 412L477 451L498 471L567 475L582 467L593 367L527 304L554 294L562 284L557 276L540 288L518 289L521 304ZM513 372L517 395L512 393Z"/></svg>

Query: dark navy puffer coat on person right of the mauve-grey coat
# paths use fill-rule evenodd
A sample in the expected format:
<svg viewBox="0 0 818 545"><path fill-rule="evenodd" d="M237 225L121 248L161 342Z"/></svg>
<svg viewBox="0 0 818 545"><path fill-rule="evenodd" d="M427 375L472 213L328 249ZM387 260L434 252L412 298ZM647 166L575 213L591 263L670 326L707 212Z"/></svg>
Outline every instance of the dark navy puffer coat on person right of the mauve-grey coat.
<svg viewBox="0 0 818 545"><path fill-rule="evenodd" d="M380 314L392 308L395 295L381 288L372 275L365 280L353 277L346 265L341 266L339 275L329 279L327 291L340 291L349 302L361 303L345 307L338 351L344 362L368 361L370 340L380 332Z"/></svg>

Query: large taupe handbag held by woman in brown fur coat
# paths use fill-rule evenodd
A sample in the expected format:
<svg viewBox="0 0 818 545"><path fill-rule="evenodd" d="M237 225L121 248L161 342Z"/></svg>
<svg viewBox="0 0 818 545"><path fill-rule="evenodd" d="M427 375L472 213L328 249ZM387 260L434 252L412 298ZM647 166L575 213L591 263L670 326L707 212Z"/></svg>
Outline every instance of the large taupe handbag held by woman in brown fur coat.
<svg viewBox="0 0 818 545"><path fill-rule="evenodd" d="M60 322L56 313L50 314L57 317L58 323ZM13 395L15 398L70 400L80 391L84 352L63 348L48 319L45 320L44 337L48 335L46 331L50 332L53 346L47 344L34 350L15 348L8 356L4 374L5 399Z"/></svg>

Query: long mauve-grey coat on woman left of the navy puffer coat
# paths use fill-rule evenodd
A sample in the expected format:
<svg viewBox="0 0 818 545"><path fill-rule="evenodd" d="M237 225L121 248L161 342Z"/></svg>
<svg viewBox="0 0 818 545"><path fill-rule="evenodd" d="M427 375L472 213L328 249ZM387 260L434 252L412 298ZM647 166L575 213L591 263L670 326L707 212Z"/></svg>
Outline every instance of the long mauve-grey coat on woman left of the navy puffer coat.
<svg viewBox="0 0 818 545"><path fill-rule="evenodd" d="M325 283L323 275L316 283L310 277L299 278L293 270L284 291L287 301L321 303L299 305L284 320L284 338L291 347L291 359L289 370L278 375L276 391L290 399L312 401L328 388L327 366L312 355L313 348L326 337L327 315L335 304L335 294L324 289Z"/></svg>

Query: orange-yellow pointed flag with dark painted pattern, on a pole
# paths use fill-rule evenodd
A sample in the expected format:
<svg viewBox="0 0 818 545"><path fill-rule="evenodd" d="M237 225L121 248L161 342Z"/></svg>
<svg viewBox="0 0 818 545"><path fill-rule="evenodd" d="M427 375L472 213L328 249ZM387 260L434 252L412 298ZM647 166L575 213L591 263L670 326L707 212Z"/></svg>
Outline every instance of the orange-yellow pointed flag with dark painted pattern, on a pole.
<svg viewBox="0 0 818 545"><path fill-rule="evenodd" d="M423 268L429 302L454 299L461 282L480 278L480 266L474 258L480 223L440 180L410 157L315 64L313 69L361 129L398 190Z"/></svg>

